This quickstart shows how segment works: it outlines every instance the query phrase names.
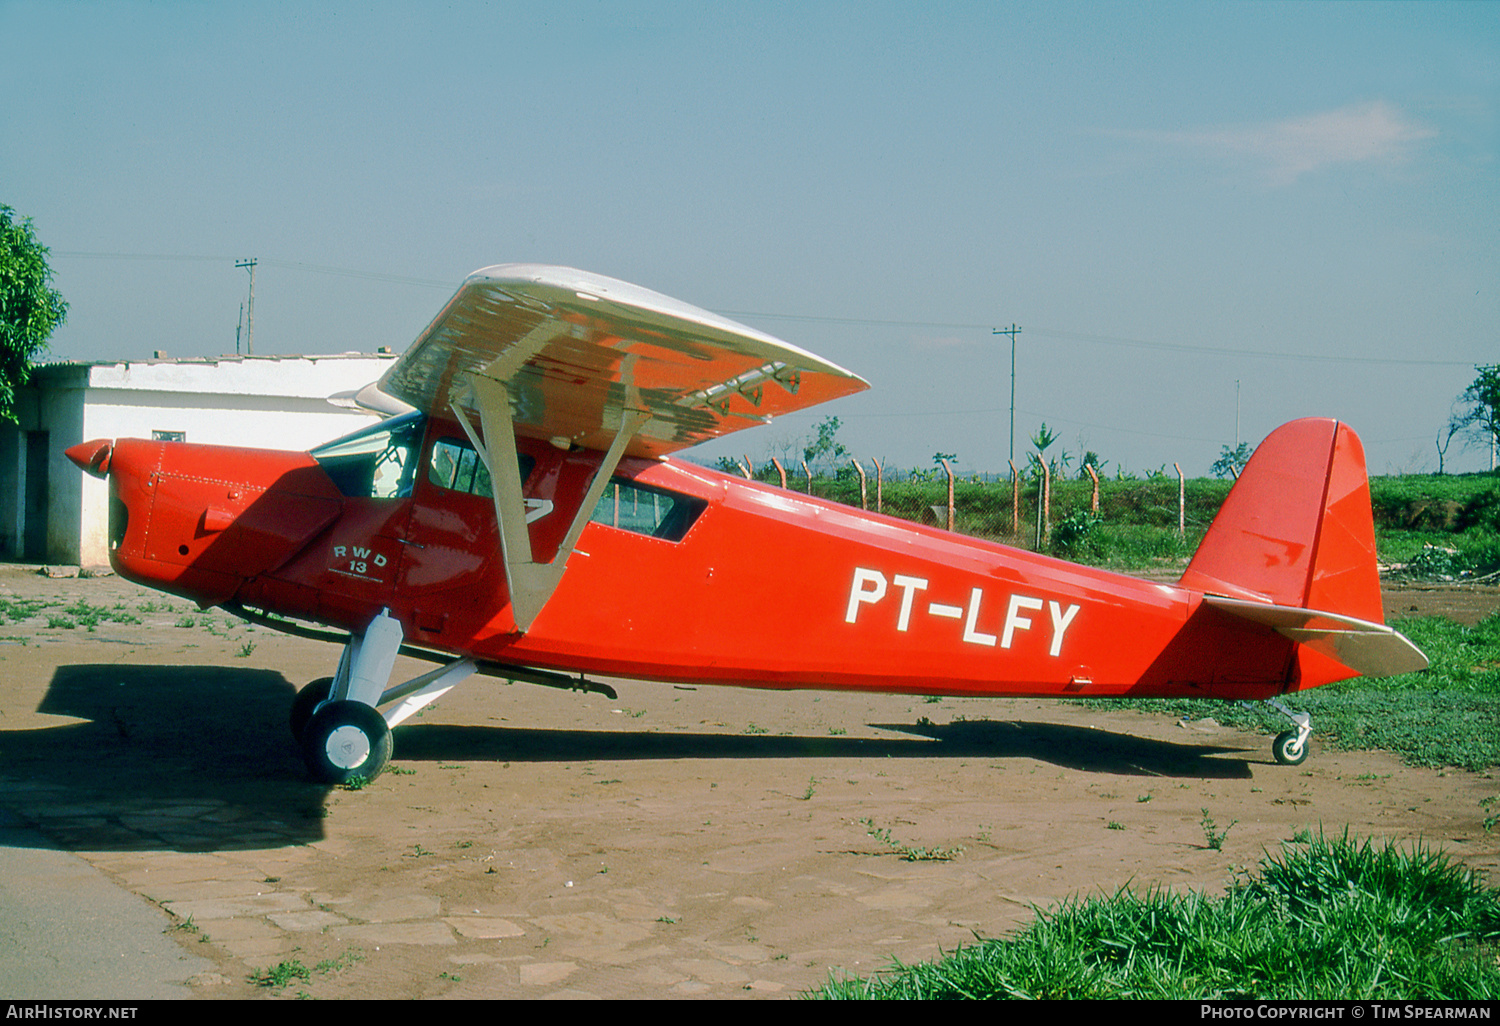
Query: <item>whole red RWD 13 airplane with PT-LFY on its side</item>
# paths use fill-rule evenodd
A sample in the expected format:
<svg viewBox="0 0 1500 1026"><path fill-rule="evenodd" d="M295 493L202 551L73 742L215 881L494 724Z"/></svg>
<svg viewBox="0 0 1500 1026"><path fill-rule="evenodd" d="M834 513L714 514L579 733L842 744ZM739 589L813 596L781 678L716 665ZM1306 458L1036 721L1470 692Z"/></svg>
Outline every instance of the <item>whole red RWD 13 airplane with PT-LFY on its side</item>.
<svg viewBox="0 0 1500 1026"><path fill-rule="evenodd" d="M110 480L123 578L344 642L291 712L321 782L372 780L390 728L476 670L609 694L586 675L1264 699L1294 765L1311 726L1281 696L1426 666L1382 622L1364 452L1334 420L1260 446L1172 585L668 459L868 386L585 272L476 272L378 387L414 411L309 453L68 450ZM392 687L398 654L441 666Z"/></svg>

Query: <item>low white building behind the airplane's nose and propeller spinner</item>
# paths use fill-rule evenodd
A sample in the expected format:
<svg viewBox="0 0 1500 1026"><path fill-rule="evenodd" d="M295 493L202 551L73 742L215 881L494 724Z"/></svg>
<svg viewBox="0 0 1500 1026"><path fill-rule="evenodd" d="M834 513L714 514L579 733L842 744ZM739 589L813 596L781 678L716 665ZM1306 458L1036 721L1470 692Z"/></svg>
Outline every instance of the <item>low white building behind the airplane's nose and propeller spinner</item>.
<svg viewBox="0 0 1500 1026"><path fill-rule="evenodd" d="M164 438L310 448L374 416L328 402L390 366L392 354L48 363L0 424L0 558L105 566L108 484L63 452L93 438Z"/></svg>

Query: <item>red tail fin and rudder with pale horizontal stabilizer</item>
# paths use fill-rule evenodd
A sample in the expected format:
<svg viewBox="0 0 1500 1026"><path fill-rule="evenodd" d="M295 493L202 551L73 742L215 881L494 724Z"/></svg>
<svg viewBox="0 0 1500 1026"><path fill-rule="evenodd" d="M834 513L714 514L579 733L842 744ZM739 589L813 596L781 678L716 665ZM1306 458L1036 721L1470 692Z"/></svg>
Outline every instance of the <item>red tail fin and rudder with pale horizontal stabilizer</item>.
<svg viewBox="0 0 1500 1026"><path fill-rule="evenodd" d="M1294 420L1246 464L1180 584L1366 676L1426 657L1384 626L1365 450L1336 420ZM1311 652L1302 687L1340 680Z"/></svg>

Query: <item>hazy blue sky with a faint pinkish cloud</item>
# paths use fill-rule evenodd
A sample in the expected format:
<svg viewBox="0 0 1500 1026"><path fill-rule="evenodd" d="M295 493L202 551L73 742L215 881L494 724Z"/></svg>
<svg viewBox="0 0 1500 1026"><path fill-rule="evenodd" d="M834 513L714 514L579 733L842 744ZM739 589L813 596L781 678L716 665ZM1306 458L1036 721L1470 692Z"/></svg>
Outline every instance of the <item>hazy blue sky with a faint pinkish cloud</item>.
<svg viewBox="0 0 1500 1026"><path fill-rule="evenodd" d="M1500 362L1500 3L0 0L51 357L402 351L472 270L729 315L870 392L693 450L1432 471ZM1488 466L1460 452L1449 471Z"/></svg>

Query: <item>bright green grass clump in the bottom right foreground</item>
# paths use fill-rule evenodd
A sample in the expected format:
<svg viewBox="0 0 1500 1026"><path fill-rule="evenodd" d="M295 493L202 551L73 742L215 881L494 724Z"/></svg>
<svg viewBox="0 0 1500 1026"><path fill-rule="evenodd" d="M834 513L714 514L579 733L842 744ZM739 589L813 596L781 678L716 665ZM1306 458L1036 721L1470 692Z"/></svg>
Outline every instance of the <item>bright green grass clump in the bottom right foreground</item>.
<svg viewBox="0 0 1500 1026"><path fill-rule="evenodd" d="M1226 894L1072 898L1012 938L813 998L1474 1000L1500 998L1500 891L1442 852L1318 836Z"/></svg>

